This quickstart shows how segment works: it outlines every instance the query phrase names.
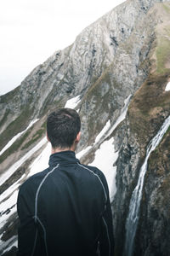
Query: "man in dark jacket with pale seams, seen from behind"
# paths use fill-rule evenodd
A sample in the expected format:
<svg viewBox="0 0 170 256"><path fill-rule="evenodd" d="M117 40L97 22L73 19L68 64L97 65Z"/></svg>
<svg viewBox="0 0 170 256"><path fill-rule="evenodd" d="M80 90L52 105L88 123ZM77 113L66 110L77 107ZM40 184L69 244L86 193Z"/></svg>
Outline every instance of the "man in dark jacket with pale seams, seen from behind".
<svg viewBox="0 0 170 256"><path fill-rule="evenodd" d="M111 204L105 176L75 156L78 113L49 114L49 166L30 177L18 196L20 256L112 256Z"/></svg>

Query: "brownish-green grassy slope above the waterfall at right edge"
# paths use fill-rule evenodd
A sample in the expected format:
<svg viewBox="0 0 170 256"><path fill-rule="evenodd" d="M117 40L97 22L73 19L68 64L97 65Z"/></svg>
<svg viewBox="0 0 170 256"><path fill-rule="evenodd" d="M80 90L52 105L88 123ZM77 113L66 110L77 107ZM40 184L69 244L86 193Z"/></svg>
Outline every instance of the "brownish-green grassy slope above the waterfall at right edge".
<svg viewBox="0 0 170 256"><path fill-rule="evenodd" d="M151 61L148 60L152 63L150 74L128 109L131 130L141 147L149 143L150 137L159 130L162 120L170 113L170 92L165 91L170 79L170 3L159 3L156 9L162 20L156 27L155 49L149 56Z"/></svg>

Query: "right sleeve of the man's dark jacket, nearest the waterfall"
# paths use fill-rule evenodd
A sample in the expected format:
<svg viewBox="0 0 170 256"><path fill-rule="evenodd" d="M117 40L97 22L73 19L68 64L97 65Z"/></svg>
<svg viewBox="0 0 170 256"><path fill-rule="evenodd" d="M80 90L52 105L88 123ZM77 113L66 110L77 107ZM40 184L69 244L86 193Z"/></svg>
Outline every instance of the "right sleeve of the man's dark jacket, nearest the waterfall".
<svg viewBox="0 0 170 256"><path fill-rule="evenodd" d="M105 180L105 177L101 177L101 180L105 187L107 201L105 203L104 212L102 213L100 218L99 255L113 256L114 255L114 238L113 238L111 201L110 201L109 189L108 189L108 185Z"/></svg>

